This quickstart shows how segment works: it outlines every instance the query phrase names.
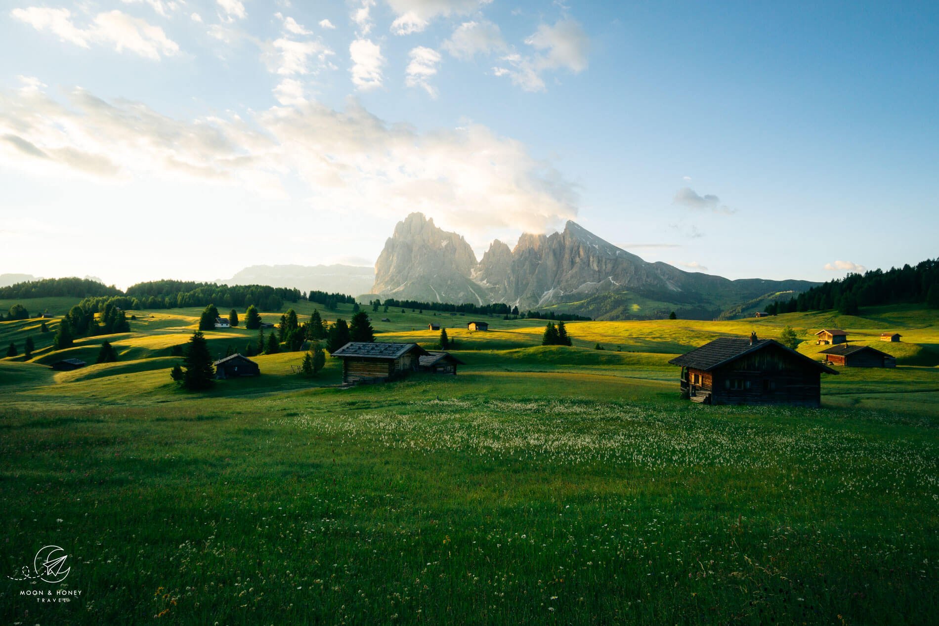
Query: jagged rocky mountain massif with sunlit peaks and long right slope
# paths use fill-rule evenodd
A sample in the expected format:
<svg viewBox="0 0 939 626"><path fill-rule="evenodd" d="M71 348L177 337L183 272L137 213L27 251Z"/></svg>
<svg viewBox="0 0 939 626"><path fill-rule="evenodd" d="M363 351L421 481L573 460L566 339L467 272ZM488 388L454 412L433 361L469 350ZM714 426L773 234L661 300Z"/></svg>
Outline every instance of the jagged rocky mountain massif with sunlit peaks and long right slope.
<svg viewBox="0 0 939 626"><path fill-rule="evenodd" d="M561 233L524 234L515 249L498 239L479 261L466 239L412 213L398 222L375 266L379 298L505 302L598 319L712 319L748 313L816 282L731 281L647 263L568 221Z"/></svg>

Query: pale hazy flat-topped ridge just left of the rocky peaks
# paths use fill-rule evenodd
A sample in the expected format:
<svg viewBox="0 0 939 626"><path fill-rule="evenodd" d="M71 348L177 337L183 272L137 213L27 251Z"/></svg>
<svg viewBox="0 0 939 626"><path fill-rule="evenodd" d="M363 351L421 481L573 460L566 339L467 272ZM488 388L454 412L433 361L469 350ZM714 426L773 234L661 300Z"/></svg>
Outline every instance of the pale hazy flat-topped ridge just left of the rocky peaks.
<svg viewBox="0 0 939 626"><path fill-rule="evenodd" d="M359 266L251 266L231 278L218 279L220 284L269 284L291 287L300 291L326 291L341 294L363 294L375 282L375 269Z"/></svg>

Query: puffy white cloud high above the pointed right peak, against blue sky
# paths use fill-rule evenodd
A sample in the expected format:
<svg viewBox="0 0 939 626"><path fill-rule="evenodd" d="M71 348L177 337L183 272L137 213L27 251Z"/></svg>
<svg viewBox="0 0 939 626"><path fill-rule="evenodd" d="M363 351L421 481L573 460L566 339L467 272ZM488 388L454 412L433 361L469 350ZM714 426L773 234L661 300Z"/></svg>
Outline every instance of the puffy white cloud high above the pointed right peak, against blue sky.
<svg viewBox="0 0 939 626"><path fill-rule="evenodd" d="M577 74L587 69L590 39L580 24L570 18L563 18L553 26L539 25L525 43L538 52L506 54L500 60L508 67L492 69L496 76L508 76L525 91L544 91L542 73L547 70L569 69Z"/></svg>

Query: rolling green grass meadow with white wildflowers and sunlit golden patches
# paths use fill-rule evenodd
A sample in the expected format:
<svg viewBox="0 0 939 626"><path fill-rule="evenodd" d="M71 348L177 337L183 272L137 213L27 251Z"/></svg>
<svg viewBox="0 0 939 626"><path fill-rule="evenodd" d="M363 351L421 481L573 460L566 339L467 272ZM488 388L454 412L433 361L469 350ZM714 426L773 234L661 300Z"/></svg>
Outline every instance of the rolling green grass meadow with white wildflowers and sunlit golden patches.
<svg viewBox="0 0 939 626"><path fill-rule="evenodd" d="M199 311L133 313L64 353L37 320L0 323L0 345L37 345L0 359L2 623L934 620L936 312L577 322L574 346L543 347L541 322L469 332L399 309L371 313L377 340L431 346L441 323L457 377L338 389L340 364L304 378L282 353L204 394L169 378ZM787 324L808 356L839 327L898 367L824 376L821 409L678 397L674 355ZM255 337L207 333L219 356ZM105 339L116 363L44 365L93 362ZM9 578L47 544L64 582Z"/></svg>

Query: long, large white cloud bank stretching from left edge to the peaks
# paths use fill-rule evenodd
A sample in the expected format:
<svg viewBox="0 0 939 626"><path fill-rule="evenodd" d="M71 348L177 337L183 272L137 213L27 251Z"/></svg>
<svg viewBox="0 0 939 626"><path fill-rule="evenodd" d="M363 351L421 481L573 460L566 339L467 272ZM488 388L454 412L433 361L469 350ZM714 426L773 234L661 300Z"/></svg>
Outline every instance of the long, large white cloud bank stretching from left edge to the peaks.
<svg viewBox="0 0 939 626"><path fill-rule="evenodd" d="M302 100L242 118L192 120L83 89L48 96L36 80L0 91L0 167L60 182L64 174L128 182L197 180L336 211L400 219L414 210L468 233L544 232L577 217L577 195L550 163L479 125L419 132L350 100L344 111Z"/></svg>

